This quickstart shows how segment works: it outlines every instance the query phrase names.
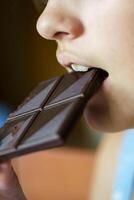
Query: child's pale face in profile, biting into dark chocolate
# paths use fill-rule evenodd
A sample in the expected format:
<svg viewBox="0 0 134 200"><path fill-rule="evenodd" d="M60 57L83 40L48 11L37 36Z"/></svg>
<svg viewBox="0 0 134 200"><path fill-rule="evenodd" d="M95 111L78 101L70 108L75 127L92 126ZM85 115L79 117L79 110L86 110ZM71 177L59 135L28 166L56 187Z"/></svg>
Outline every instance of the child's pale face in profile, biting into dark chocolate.
<svg viewBox="0 0 134 200"><path fill-rule="evenodd" d="M134 1L49 0L37 29L57 42L61 65L109 73L85 109L89 125L110 132L134 127Z"/></svg>

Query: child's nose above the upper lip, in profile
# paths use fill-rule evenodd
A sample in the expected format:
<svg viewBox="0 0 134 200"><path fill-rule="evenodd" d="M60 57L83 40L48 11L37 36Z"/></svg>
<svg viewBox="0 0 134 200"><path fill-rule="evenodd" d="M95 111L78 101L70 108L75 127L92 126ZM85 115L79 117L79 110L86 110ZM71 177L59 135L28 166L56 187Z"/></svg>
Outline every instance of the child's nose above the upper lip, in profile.
<svg viewBox="0 0 134 200"><path fill-rule="evenodd" d="M83 25L71 11L48 5L37 21L37 30L48 40L69 40L83 33Z"/></svg>

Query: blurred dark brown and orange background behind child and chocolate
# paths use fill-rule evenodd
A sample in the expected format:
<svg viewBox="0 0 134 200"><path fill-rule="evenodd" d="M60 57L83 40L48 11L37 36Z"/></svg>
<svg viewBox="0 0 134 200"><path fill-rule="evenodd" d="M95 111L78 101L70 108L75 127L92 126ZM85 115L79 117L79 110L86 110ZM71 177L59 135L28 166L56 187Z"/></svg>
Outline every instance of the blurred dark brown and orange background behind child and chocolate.
<svg viewBox="0 0 134 200"><path fill-rule="evenodd" d="M66 73L57 63L56 44L36 31L43 8L40 5L38 0L4 0L0 4L0 126L39 82ZM87 199L100 140L82 118L65 147L15 159L14 167L27 198Z"/></svg>

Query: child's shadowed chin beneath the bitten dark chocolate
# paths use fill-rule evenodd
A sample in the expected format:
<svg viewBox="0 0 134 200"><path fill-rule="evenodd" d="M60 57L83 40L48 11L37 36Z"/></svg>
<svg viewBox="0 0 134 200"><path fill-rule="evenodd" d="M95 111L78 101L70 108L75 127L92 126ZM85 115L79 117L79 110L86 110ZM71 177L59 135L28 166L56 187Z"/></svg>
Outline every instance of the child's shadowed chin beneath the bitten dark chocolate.
<svg viewBox="0 0 134 200"><path fill-rule="evenodd" d="M84 118L91 129L100 133L114 133L132 128L132 116L111 99L110 93L106 93L103 87L88 101Z"/></svg>

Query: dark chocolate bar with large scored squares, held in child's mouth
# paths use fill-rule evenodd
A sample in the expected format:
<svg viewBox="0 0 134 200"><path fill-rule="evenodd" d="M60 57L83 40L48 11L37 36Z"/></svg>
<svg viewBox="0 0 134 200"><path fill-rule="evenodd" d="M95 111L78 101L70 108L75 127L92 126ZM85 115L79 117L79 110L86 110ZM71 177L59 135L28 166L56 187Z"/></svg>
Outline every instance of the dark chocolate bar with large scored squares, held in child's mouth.
<svg viewBox="0 0 134 200"><path fill-rule="evenodd" d="M0 129L0 160L63 145L106 77L94 68L39 84Z"/></svg>

